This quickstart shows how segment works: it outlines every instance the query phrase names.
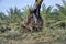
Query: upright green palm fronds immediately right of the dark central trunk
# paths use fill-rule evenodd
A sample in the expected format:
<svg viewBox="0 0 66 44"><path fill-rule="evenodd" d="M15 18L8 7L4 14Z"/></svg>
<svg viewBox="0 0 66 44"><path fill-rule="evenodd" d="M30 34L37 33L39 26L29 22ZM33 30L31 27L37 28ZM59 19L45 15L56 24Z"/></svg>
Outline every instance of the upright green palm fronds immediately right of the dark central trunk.
<svg viewBox="0 0 66 44"><path fill-rule="evenodd" d="M43 15L43 18L44 18L45 20L48 20L48 19L50 19L51 13L52 13L52 8L53 8L53 7L51 7L51 6L47 7L47 8L46 8L45 4L42 6L42 11L41 11L41 13L42 13L42 15Z"/></svg>

